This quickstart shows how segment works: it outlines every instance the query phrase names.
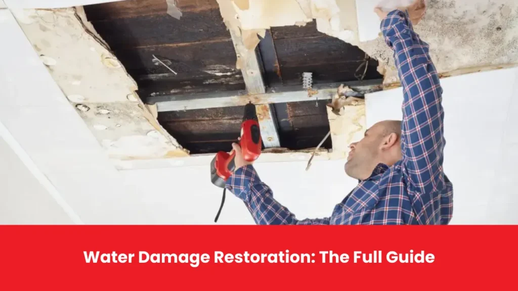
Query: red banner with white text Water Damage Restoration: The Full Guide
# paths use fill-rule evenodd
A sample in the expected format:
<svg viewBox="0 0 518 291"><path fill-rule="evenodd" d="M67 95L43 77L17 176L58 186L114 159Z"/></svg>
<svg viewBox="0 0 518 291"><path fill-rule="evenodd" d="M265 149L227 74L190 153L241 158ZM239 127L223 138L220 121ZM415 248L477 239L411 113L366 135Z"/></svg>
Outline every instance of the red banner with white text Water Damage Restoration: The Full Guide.
<svg viewBox="0 0 518 291"><path fill-rule="evenodd" d="M517 230L1 226L0 289L511 289Z"/></svg>

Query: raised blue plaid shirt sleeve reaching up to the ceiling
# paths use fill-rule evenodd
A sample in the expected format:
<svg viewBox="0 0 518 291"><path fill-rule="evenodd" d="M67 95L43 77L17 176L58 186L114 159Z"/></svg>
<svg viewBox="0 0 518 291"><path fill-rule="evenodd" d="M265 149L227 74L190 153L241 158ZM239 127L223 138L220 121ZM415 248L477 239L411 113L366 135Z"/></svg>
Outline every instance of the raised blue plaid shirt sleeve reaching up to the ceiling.
<svg viewBox="0 0 518 291"><path fill-rule="evenodd" d="M428 44L413 31L408 14L391 11L381 23L404 93L401 151L409 184L418 193L444 187L442 88Z"/></svg>

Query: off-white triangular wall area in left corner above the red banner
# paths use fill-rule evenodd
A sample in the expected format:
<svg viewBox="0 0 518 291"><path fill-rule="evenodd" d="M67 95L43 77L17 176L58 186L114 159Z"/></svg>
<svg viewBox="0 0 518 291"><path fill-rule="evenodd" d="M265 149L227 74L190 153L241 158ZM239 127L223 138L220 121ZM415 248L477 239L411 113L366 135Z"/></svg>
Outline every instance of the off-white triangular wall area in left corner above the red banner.
<svg viewBox="0 0 518 291"><path fill-rule="evenodd" d="M74 224L2 137L0 161L0 224Z"/></svg>

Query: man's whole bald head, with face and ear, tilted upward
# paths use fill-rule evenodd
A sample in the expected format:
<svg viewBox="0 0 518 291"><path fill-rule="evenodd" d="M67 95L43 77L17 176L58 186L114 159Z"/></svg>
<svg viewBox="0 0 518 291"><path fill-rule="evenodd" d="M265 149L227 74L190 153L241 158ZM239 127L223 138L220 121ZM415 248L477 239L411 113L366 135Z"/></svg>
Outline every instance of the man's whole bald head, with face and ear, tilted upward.
<svg viewBox="0 0 518 291"><path fill-rule="evenodd" d="M385 120L372 125L362 140L351 143L346 173L365 180L378 164L394 165L401 159L400 139L401 121Z"/></svg>

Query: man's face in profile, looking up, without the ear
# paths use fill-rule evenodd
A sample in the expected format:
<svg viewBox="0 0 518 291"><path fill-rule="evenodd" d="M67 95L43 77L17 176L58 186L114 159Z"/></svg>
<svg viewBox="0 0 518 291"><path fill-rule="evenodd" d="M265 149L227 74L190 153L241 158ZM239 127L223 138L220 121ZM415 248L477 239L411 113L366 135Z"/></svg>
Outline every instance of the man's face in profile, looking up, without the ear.
<svg viewBox="0 0 518 291"><path fill-rule="evenodd" d="M348 176L359 180L370 176L372 169L376 166L381 129L379 124L375 124L366 130L362 140L350 144L351 151L345 165Z"/></svg>

